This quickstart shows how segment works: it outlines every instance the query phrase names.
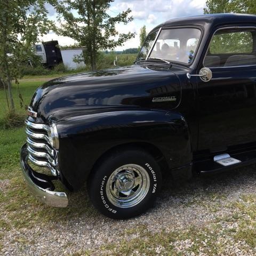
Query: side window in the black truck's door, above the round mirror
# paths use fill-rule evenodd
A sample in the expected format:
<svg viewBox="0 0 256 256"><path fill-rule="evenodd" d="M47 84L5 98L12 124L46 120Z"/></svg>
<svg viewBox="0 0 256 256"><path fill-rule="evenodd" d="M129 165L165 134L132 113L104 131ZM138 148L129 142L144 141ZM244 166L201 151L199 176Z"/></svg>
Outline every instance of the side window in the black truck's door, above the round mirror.
<svg viewBox="0 0 256 256"><path fill-rule="evenodd" d="M235 67L256 65L255 30L219 30L212 37L204 59L205 67Z"/></svg>

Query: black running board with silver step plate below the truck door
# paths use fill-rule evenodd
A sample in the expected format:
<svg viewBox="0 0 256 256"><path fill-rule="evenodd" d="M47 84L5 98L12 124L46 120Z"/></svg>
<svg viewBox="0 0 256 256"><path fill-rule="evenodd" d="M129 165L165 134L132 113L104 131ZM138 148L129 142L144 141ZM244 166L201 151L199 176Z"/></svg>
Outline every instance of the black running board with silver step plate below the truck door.
<svg viewBox="0 0 256 256"><path fill-rule="evenodd" d="M198 159L193 163L197 173L222 172L256 163L256 150L236 154L221 154L211 158Z"/></svg>

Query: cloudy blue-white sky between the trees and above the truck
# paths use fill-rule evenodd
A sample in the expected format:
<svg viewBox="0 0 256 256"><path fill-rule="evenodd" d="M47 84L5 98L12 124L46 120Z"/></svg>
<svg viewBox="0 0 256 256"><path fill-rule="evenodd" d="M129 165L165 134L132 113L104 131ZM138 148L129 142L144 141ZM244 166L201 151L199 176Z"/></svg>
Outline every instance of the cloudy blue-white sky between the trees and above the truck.
<svg viewBox="0 0 256 256"><path fill-rule="evenodd" d="M116 26L119 33L137 33L133 39L127 41L123 46L117 47L116 51L139 46L140 28L145 25L147 32L160 23L179 17L203 14L206 0L115 0L108 11L109 15L115 16L128 8L132 10L133 21L127 25ZM49 19L57 20L57 14L51 5L47 5ZM69 37L58 36L52 31L40 37L40 41L58 40L60 45L71 45L75 41Z"/></svg>

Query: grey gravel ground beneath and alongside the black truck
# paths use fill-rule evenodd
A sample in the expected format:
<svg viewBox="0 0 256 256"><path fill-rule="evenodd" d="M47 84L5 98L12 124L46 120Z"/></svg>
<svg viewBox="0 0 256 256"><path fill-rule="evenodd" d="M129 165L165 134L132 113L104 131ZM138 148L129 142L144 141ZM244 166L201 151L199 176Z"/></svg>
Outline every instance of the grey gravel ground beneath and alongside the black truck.
<svg viewBox="0 0 256 256"><path fill-rule="evenodd" d="M193 225L197 228L211 225L217 218L229 217L233 212L227 207L232 202L239 202L241 195L255 194L255 166L246 167L228 173L196 177L188 182L165 181L162 193L153 209L130 220L111 220L99 213L82 214L65 221L48 221L32 229L11 228L2 232L3 247L0 255L72 255L73 253L92 250L93 255L103 253L101 246L115 244L122 239L129 241L139 236L136 232L127 232L137 227L144 227L151 233L186 230ZM7 181L0 182L0 189ZM256 255L245 241L234 241L222 235L223 230L236 229L236 222L220 222L217 244L225 244L222 255ZM202 241L202 248L206 241ZM196 255L187 250L193 246L190 239L172 242L177 253ZM155 247L155 254L164 254L162 245ZM201 250L201 249L200 249ZM135 254L140 254L135 251ZM80 255L80 254L76 254ZM111 255L111 253L109 253ZM198 255L198 254L197 254ZM205 255L204 252L199 255Z"/></svg>

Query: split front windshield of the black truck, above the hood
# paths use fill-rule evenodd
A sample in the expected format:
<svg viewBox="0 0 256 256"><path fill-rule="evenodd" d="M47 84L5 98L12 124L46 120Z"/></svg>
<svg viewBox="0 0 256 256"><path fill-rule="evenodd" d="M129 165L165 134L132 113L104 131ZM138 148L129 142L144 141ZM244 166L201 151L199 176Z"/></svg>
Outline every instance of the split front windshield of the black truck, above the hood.
<svg viewBox="0 0 256 256"><path fill-rule="evenodd" d="M158 31L155 31L148 35L137 60L147 58L157 33ZM162 29L148 58L189 64L195 57L200 37L201 30L197 28Z"/></svg>

